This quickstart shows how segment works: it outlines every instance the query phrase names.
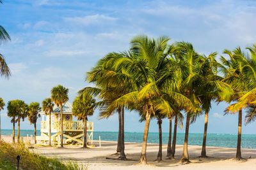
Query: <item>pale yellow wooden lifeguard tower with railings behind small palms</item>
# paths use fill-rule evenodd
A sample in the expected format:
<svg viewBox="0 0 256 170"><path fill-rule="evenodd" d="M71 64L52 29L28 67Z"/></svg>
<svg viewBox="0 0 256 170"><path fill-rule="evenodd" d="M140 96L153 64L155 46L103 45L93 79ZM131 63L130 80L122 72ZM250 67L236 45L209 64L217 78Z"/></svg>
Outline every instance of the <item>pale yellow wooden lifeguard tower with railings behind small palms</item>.
<svg viewBox="0 0 256 170"><path fill-rule="evenodd" d="M44 111L40 111L42 115L41 136L36 136L36 140L42 143L49 141L49 115L45 115ZM60 144L60 107L54 104L51 113L51 141L54 144ZM66 102L63 104L63 143L64 144L83 144L84 126L81 121L73 121L72 104ZM93 143L93 122L87 122L87 141L90 145Z"/></svg>

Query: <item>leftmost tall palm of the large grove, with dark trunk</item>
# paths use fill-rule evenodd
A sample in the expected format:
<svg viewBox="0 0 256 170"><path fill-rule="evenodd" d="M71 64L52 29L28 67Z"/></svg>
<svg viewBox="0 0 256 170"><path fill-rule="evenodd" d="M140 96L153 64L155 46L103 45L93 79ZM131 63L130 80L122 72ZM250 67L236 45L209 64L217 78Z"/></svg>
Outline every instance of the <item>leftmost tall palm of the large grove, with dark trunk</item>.
<svg viewBox="0 0 256 170"><path fill-rule="evenodd" d="M118 112L118 144L114 155L120 155L119 159L124 160L126 159L124 153L124 105L111 108L111 110L108 108L109 104L127 94L127 89L132 87L131 78L125 74L123 69L114 67L116 59L121 56L122 53L108 53L100 59L97 66L87 73L87 80L90 83L95 83L97 88L88 89L87 87L86 90L89 90L93 96L99 97L100 118L108 118Z"/></svg>

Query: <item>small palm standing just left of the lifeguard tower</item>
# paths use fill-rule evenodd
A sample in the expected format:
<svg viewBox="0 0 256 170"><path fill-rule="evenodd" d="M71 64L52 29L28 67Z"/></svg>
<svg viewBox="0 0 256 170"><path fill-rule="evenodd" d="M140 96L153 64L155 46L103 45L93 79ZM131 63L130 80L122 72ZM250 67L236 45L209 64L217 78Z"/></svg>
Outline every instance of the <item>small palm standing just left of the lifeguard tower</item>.
<svg viewBox="0 0 256 170"><path fill-rule="evenodd" d="M36 144L36 121L37 118L40 117L38 112L41 111L40 104L37 102L30 103L28 106L28 120L30 124L34 124L34 135L35 135L35 144Z"/></svg>

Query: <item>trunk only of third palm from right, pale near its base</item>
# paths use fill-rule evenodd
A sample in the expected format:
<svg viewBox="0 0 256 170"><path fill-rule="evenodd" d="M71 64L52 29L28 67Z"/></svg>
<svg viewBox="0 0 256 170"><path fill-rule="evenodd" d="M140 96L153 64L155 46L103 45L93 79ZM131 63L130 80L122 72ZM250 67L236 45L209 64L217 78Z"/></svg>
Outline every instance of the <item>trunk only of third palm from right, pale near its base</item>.
<svg viewBox="0 0 256 170"><path fill-rule="evenodd" d="M189 155L188 155L188 132L189 132L189 123L190 123L190 113L187 114L186 119L186 132L183 146L183 155L180 160L182 163L189 163Z"/></svg>

